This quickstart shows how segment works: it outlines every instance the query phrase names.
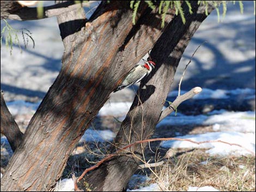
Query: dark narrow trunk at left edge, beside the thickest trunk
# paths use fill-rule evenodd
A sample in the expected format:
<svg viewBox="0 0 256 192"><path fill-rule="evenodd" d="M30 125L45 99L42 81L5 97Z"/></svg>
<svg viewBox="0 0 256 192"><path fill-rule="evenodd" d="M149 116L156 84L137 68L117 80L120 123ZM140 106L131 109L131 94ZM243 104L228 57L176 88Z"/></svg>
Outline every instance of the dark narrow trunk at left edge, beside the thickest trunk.
<svg viewBox="0 0 256 192"><path fill-rule="evenodd" d="M11 116L1 92L1 133L5 135L13 151L20 145L22 135L19 126Z"/></svg>

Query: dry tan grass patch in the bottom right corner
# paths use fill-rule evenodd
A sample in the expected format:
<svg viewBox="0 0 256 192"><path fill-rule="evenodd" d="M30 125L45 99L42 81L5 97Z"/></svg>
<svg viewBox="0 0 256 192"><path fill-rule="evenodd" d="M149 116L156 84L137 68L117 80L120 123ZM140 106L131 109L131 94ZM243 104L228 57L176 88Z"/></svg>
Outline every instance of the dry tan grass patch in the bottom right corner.
<svg viewBox="0 0 256 192"><path fill-rule="evenodd" d="M205 164L202 164L204 162ZM188 187L211 186L220 191L255 191L255 157L210 157L194 150L168 159L151 174L162 191L187 191Z"/></svg>

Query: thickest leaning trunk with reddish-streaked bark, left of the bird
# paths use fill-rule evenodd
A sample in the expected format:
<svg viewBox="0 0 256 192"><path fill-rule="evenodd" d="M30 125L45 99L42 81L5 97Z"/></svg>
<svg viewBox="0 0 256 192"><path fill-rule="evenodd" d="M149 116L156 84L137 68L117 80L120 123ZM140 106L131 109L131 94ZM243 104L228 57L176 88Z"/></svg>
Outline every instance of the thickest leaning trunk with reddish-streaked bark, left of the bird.
<svg viewBox="0 0 256 192"><path fill-rule="evenodd" d="M1 190L54 188L109 94L162 34L155 13L142 3L133 26L130 2L111 1L102 2L87 23L83 10L58 16L62 68L11 157ZM166 15L166 26L173 17Z"/></svg>

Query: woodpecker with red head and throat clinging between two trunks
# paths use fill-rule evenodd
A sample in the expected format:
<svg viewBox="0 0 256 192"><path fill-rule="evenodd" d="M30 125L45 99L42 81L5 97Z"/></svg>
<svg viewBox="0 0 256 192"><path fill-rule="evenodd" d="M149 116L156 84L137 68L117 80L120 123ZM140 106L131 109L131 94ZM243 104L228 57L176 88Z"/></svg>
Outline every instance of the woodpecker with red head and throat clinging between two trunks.
<svg viewBox="0 0 256 192"><path fill-rule="evenodd" d="M138 64L135 65L135 67L133 67L131 69L131 71L129 71L129 73L127 73L126 77L124 78L123 82L121 82L117 89L115 89L113 92L119 91L121 89L127 88L128 86L131 86L135 83L140 82L145 76L148 76L149 73L155 68L155 63L151 60L144 60L142 59L145 63L143 65Z"/></svg>

